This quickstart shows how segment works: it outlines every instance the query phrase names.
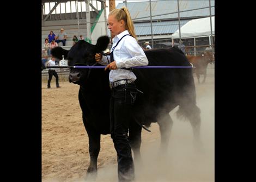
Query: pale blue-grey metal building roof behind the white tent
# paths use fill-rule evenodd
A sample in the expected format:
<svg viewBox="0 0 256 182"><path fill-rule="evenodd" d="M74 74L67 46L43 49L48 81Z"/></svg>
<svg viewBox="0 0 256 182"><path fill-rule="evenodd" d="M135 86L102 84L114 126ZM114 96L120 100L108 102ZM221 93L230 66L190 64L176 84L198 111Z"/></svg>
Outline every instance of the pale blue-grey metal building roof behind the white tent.
<svg viewBox="0 0 256 182"><path fill-rule="evenodd" d="M211 6L215 5L215 1L211 0ZM119 3L117 8L125 6L125 2ZM208 7L208 8L205 8ZM131 14L135 26L136 35L151 35L150 28L150 4L149 1L129 2L127 8ZM205 8L205 9L199 9ZM202 18L210 15L209 0L180 0L180 11L198 9L193 11L180 12L180 27L184 26L188 21L195 18ZM214 7L211 8L211 15L215 15ZM175 13L173 13L175 12ZM151 14L153 34L173 34L179 29L178 21L178 4L177 1L151 1ZM167 15L162 15L167 14ZM155 16L161 15L161 16Z"/></svg>

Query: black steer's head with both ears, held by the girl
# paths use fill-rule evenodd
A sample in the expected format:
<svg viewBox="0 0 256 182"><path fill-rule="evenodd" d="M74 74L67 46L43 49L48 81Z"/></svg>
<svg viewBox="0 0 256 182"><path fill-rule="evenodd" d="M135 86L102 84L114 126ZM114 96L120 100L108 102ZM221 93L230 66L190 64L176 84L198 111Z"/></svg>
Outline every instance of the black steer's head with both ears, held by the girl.
<svg viewBox="0 0 256 182"><path fill-rule="evenodd" d="M62 48L60 49L60 47L52 49L52 56L62 59L62 55L64 55L64 58L68 60L69 66L92 66L96 63L95 54L105 51L108 44L108 36L99 37L96 45L80 40L75 43L68 52L66 52L66 57L66 50ZM69 82L81 85L87 81L90 73L91 71L88 68L70 68Z"/></svg>

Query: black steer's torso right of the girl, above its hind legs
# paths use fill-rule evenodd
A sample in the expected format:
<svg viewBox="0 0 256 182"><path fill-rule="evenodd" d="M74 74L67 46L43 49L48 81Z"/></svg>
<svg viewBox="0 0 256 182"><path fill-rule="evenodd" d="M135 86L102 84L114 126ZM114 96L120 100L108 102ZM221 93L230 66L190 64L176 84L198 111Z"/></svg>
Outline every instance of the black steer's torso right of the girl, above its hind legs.
<svg viewBox="0 0 256 182"><path fill-rule="evenodd" d="M145 51L149 66L191 66L178 48L151 49ZM192 68L134 69L136 85L143 94L138 95L138 112L144 112L141 121L148 125L156 122L161 111L170 111L176 105L196 103ZM148 118L148 120L145 120ZM148 122L148 123L147 123Z"/></svg>

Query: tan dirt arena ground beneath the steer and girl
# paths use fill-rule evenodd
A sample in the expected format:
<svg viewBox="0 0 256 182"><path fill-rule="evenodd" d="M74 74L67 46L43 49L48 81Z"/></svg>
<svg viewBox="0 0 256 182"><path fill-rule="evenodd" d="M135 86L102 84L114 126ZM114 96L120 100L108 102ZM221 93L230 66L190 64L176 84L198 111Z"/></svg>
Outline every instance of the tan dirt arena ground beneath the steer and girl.
<svg viewBox="0 0 256 182"><path fill-rule="evenodd" d="M205 84L198 84L197 105L201 109L203 149L193 146L189 122L175 117L168 152L160 151L159 126L142 131L143 164L135 164L137 181L214 181L214 69ZM84 181L89 165L88 136L78 103L79 86L52 80L42 83L42 181ZM117 181L117 155L110 135L101 135L96 181Z"/></svg>

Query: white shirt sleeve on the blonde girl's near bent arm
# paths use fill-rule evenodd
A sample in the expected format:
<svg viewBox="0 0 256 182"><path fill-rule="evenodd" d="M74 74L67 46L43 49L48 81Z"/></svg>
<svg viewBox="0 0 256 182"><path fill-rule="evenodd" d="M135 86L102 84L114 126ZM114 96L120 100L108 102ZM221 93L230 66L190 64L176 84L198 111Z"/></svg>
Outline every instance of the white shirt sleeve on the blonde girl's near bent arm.
<svg viewBox="0 0 256 182"><path fill-rule="evenodd" d="M123 58L115 60L117 68L130 68L134 66L147 66L149 64L141 46L138 45L136 39L132 37L129 41L125 41L124 51L131 56L131 58Z"/></svg>

